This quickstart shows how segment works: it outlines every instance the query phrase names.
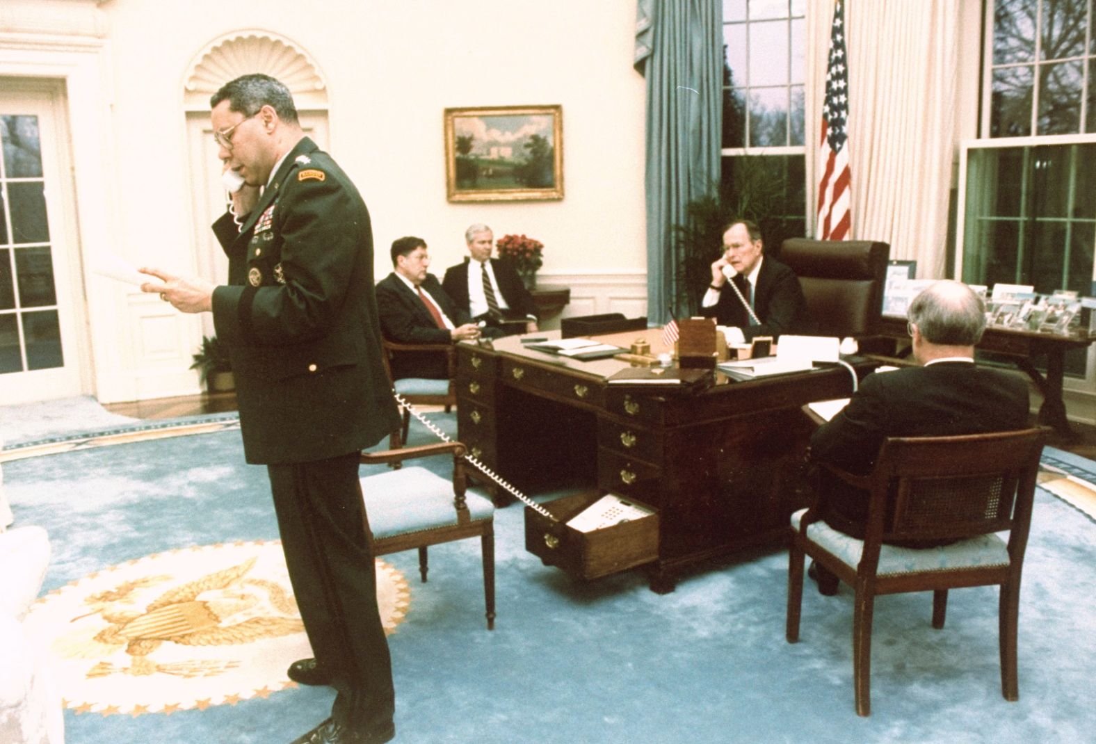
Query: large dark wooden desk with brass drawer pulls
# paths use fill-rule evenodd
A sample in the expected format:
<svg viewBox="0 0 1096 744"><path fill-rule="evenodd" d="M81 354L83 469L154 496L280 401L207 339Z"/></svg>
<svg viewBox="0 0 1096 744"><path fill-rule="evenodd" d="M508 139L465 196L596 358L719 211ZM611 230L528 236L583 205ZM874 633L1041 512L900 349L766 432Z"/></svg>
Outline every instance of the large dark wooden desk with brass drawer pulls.
<svg viewBox="0 0 1096 744"><path fill-rule="evenodd" d="M649 569L659 593L673 591L687 565L784 540L790 514L809 500L803 456L814 425L800 407L847 397L848 371L718 376L704 390L606 384L626 366L532 351L521 336L463 342L458 436L525 493L598 488L657 507L660 554Z"/></svg>

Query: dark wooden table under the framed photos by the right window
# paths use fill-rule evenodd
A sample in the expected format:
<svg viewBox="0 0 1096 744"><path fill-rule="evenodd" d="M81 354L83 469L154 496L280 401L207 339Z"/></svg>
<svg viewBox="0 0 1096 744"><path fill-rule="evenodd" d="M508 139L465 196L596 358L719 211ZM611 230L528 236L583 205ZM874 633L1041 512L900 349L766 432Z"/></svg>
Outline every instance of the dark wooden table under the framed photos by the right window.
<svg viewBox="0 0 1096 744"><path fill-rule="evenodd" d="M879 328L880 334L889 339L906 341L910 339L904 318L883 316ZM1076 438L1077 434L1070 426L1070 420L1065 415L1065 403L1062 401L1065 353L1074 348L1084 348L1093 341L1096 341L1096 335L1087 332L1076 335L1059 335L990 325L982 334L982 341L978 344L978 348L1014 359L1016 366L1027 373L1027 376L1039 388L1039 392L1042 393L1039 423L1053 426L1059 434L1072 439ZM1040 356L1047 358L1046 375L1035 366L1035 359Z"/></svg>

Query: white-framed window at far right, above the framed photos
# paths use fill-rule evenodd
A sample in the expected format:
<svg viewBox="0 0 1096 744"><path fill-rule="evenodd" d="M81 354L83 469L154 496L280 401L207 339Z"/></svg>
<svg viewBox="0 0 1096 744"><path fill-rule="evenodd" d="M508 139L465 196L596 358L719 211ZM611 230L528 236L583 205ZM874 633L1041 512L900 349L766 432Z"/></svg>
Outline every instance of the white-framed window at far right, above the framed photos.
<svg viewBox="0 0 1096 744"><path fill-rule="evenodd" d="M969 284L1092 295L1096 247L1093 0L989 0L980 138L963 142ZM1085 375L1084 350L1068 371Z"/></svg>

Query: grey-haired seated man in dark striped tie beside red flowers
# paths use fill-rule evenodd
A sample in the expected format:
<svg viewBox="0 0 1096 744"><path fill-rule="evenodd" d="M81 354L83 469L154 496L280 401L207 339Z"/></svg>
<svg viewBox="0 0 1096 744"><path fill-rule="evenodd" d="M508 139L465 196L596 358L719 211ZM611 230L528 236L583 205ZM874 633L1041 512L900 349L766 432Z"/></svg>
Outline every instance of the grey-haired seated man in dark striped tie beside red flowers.
<svg viewBox="0 0 1096 744"><path fill-rule="evenodd" d="M457 307L504 333L537 330L537 308L533 295L510 261L492 259L494 233L487 225L465 230L469 257L445 270L442 286ZM507 322L504 322L507 321ZM522 322L514 321L524 321Z"/></svg>

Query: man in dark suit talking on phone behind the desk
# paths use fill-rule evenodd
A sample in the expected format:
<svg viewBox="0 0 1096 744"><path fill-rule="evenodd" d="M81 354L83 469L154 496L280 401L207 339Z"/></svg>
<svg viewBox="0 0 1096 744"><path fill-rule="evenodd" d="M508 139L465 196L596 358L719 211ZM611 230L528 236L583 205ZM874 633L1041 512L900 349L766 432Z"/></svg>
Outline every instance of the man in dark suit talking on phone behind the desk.
<svg viewBox="0 0 1096 744"><path fill-rule="evenodd" d="M711 264L711 285L700 300L700 314L739 329L745 341L811 333L814 321L799 279L783 263L763 255L763 248L761 230L750 220L723 228L723 255Z"/></svg>

